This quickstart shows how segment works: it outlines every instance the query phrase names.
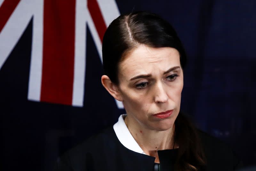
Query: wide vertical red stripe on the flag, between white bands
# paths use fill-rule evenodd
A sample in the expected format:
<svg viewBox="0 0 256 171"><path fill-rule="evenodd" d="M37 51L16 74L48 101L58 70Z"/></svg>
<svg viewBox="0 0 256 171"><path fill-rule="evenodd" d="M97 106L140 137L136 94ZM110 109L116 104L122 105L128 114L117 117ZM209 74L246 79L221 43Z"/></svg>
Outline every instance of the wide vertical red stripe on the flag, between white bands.
<svg viewBox="0 0 256 171"><path fill-rule="evenodd" d="M44 0L41 101L72 105L75 11L75 0Z"/></svg>

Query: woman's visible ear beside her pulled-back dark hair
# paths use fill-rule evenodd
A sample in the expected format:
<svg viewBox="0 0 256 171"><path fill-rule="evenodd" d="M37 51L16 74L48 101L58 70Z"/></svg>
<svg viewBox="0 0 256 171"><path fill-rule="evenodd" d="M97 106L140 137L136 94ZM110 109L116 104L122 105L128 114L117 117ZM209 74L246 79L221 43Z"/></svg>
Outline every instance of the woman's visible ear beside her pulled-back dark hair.
<svg viewBox="0 0 256 171"><path fill-rule="evenodd" d="M111 82L107 75L102 75L101 83L109 92L109 94L111 94L111 96L113 96L118 101L123 101L123 98L121 96L120 91L118 90L118 87L113 82Z"/></svg>

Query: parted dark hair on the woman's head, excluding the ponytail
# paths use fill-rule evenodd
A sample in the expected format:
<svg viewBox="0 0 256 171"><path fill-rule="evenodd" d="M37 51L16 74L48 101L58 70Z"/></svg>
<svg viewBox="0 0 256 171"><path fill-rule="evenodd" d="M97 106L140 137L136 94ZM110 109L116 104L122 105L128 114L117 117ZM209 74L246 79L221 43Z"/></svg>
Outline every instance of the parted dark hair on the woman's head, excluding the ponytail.
<svg viewBox="0 0 256 171"><path fill-rule="evenodd" d="M172 47L180 53L180 64L186 65L186 53L173 27L156 14L133 12L110 23L102 42L105 74L118 84L118 63L139 45L151 48Z"/></svg>

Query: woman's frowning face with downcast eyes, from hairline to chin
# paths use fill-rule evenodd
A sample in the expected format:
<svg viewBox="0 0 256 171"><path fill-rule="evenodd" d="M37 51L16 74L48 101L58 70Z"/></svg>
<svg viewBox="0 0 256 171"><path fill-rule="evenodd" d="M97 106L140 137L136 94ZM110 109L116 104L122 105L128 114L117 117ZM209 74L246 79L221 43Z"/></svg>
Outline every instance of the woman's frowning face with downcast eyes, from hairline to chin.
<svg viewBox="0 0 256 171"><path fill-rule="evenodd" d="M129 124L158 131L172 128L180 111L183 88L176 49L140 45L119 64L118 79ZM162 112L166 113L157 114Z"/></svg>

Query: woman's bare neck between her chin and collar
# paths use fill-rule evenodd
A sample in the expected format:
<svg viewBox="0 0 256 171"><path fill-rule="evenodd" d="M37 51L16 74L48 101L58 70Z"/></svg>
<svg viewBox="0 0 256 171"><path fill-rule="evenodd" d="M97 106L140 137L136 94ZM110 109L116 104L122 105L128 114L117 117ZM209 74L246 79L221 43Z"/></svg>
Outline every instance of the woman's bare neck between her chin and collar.
<svg viewBox="0 0 256 171"><path fill-rule="evenodd" d="M141 127L138 122L129 118L128 115L125 117L124 122L143 152L156 157L156 163L159 163L157 150L174 148L174 125L170 129L164 131L150 130Z"/></svg>

